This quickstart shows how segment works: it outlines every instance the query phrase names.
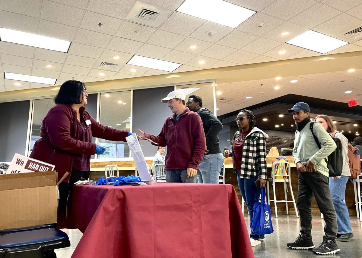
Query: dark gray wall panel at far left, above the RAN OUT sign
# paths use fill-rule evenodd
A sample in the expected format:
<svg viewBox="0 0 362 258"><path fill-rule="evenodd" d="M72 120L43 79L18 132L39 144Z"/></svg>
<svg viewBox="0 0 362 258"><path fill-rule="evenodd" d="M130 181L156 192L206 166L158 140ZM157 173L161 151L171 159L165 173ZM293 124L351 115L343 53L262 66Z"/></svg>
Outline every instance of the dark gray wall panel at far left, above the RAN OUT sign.
<svg viewBox="0 0 362 258"><path fill-rule="evenodd" d="M25 155L30 100L0 103L0 162L10 162L15 153Z"/></svg>

